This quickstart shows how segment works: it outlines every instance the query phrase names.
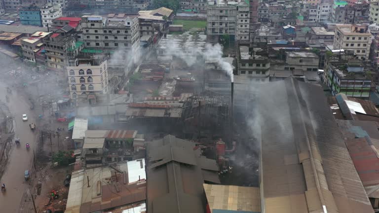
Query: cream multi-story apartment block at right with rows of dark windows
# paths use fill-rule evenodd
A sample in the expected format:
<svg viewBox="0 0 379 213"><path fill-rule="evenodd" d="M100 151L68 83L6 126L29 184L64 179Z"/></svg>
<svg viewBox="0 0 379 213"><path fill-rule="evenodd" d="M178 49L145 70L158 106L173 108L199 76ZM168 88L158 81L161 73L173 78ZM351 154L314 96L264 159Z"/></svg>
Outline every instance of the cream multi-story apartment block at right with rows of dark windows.
<svg viewBox="0 0 379 213"><path fill-rule="evenodd" d="M367 60L370 54L371 36L368 25L338 25L333 48L354 50L359 59Z"/></svg>

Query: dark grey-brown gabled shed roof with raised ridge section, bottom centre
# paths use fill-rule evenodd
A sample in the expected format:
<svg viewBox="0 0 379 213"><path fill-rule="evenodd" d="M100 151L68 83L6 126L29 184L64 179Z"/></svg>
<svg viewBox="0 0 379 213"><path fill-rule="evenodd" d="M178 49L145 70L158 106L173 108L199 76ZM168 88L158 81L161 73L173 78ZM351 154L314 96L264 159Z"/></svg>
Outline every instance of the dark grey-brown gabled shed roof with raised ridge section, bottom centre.
<svg viewBox="0 0 379 213"><path fill-rule="evenodd" d="M150 213L204 213L205 196L202 185L204 178L201 168L197 166L199 162L193 162L198 159L193 147L193 142L177 139L171 135L148 142L147 177ZM171 150L173 154L169 154ZM157 166L159 161L165 163ZM187 165L181 163L182 161ZM217 172L213 173L217 176Z"/></svg>

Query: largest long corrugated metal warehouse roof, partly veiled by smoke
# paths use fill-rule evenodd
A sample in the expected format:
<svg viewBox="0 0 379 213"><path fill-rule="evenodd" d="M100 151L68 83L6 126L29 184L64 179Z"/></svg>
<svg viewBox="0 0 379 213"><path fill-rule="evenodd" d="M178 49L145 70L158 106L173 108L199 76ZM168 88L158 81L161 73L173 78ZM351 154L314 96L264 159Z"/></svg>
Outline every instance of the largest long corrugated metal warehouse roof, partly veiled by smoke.
<svg viewBox="0 0 379 213"><path fill-rule="evenodd" d="M287 78L259 89L265 91L258 92L265 212L325 206L328 212L373 213L322 88Z"/></svg>

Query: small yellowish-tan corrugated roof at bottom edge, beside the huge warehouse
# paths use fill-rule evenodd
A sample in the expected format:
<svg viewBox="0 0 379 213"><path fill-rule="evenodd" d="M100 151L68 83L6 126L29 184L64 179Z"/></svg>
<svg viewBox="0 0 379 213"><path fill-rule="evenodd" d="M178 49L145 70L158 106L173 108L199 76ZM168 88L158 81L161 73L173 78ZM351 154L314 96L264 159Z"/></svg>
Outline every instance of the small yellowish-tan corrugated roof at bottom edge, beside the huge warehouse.
<svg viewBox="0 0 379 213"><path fill-rule="evenodd" d="M259 187L203 184L211 213L260 213Z"/></svg>

